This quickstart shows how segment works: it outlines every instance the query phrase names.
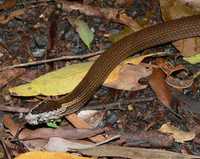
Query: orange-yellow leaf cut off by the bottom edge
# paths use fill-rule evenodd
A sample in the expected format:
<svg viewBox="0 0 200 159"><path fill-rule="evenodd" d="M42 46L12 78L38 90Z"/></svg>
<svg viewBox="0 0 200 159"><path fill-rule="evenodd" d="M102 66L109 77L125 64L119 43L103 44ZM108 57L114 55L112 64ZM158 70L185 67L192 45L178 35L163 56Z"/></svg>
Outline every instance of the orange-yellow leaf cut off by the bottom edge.
<svg viewBox="0 0 200 159"><path fill-rule="evenodd" d="M23 153L15 157L15 159L91 159L91 158L75 156L65 152L32 151Z"/></svg>

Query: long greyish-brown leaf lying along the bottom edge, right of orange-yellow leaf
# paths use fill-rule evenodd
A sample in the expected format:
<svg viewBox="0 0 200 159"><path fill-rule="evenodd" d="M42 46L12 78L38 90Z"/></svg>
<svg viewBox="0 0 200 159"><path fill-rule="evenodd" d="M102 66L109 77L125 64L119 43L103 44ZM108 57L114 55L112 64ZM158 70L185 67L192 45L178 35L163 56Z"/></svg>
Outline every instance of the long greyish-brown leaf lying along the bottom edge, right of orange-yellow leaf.
<svg viewBox="0 0 200 159"><path fill-rule="evenodd" d="M199 158L195 155L186 155L171 151L157 150L157 149L145 149L145 148L133 148L122 146L97 146L91 149L79 150L82 154L91 156L108 156L108 157L122 157L131 159L194 159Z"/></svg>

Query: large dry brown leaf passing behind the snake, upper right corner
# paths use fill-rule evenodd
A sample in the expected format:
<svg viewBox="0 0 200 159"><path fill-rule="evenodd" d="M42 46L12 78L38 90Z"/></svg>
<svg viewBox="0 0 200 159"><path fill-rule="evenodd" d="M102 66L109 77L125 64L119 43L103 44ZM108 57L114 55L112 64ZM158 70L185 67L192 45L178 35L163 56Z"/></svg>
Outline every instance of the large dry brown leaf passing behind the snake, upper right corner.
<svg viewBox="0 0 200 159"><path fill-rule="evenodd" d="M188 3L186 5L186 3L186 0L160 0L163 19L168 21L185 16L199 14L195 9L188 6ZM173 44L185 57L195 55L200 51L199 37L179 40Z"/></svg>

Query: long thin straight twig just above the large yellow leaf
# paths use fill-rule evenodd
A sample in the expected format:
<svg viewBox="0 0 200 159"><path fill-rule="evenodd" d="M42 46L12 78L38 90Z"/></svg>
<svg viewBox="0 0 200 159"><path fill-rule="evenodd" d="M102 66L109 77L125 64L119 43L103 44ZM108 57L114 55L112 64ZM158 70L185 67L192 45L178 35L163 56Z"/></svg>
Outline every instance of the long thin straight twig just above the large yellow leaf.
<svg viewBox="0 0 200 159"><path fill-rule="evenodd" d="M4 71L4 70L13 69L13 68L40 65L40 64L49 63L49 62L55 62L55 61L60 61L60 60L75 60L75 59L81 59L82 60L82 59L85 59L85 58L89 58L89 57L100 55L102 52L104 52L104 51L101 50L101 51L98 51L98 52L95 52L95 53L89 53L89 54L86 54L86 55L62 56L62 57L52 58L52 59L47 59L47 60L40 60L40 61L33 61L33 62L28 62L28 63L21 63L21 64L16 64L16 65L12 65L12 66L3 67L3 68L0 69L0 72Z"/></svg>

